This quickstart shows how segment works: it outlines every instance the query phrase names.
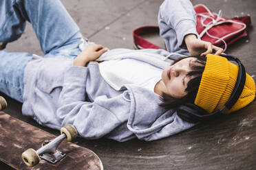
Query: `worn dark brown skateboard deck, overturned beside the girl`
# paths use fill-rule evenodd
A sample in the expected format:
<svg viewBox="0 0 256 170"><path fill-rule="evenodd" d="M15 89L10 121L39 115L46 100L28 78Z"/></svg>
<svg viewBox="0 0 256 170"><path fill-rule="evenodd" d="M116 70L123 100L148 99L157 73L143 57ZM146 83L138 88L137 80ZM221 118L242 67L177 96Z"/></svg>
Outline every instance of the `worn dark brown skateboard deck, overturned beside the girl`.
<svg viewBox="0 0 256 170"><path fill-rule="evenodd" d="M0 111L0 160L13 169L103 169L93 151L67 140L58 145L58 150L65 153L59 162L53 165L41 160L38 165L27 167L21 158L23 151L39 149L45 140L53 138L56 136Z"/></svg>

